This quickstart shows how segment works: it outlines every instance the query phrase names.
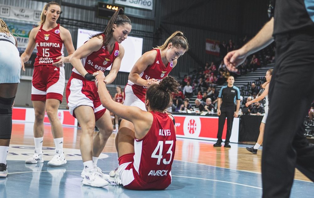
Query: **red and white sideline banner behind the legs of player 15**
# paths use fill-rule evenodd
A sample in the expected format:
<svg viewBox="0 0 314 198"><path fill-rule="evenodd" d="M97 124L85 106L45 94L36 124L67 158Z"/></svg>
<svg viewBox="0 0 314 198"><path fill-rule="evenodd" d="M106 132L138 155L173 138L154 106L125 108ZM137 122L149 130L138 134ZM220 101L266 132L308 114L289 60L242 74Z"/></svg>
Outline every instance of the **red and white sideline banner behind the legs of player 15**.
<svg viewBox="0 0 314 198"><path fill-rule="evenodd" d="M58 117L63 126L77 127L78 121L69 112L69 110L59 109ZM14 107L12 112L12 121L14 122L34 122L34 108ZM44 124L50 124L47 113L45 113Z"/></svg>

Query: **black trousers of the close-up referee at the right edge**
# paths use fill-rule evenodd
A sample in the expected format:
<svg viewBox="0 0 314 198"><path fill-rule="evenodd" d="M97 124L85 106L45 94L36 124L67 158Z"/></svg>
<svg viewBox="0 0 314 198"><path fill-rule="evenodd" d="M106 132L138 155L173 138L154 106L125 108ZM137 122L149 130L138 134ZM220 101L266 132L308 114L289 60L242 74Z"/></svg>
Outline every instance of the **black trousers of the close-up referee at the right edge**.
<svg viewBox="0 0 314 198"><path fill-rule="evenodd" d="M275 68L269 86L262 179L263 197L289 197L295 167L314 181L314 145L302 123L314 99L314 35L275 37Z"/></svg>

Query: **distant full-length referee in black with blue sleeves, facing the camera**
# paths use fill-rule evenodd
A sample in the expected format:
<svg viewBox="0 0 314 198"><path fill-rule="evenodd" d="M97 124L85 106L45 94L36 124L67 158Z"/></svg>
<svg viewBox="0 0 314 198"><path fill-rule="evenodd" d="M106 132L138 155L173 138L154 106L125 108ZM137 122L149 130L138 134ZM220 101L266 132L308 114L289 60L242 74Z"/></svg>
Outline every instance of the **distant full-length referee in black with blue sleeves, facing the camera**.
<svg viewBox="0 0 314 198"><path fill-rule="evenodd" d="M220 147L222 143L222 130L224 129L226 117L227 117L227 134L225 139L225 147L230 148L229 139L231 136L233 117L238 117L240 108L240 90L238 87L233 86L235 79L233 76L228 77L228 85L221 87L218 96L217 103L217 115L218 118L218 133L217 142L214 144L215 147ZM236 111L235 111L236 103ZM221 104L221 107L220 107Z"/></svg>

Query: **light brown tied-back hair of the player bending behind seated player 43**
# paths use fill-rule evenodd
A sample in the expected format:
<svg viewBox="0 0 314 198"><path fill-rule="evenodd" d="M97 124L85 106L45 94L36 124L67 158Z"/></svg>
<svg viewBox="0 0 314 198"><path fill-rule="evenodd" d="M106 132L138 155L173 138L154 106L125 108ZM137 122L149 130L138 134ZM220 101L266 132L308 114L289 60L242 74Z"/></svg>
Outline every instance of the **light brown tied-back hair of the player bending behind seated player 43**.
<svg viewBox="0 0 314 198"><path fill-rule="evenodd" d="M171 34L171 36L168 37L164 44L157 46L155 49L166 49L169 43L172 43L172 45L176 48L182 48L186 51L189 49L187 38L180 31L176 31Z"/></svg>

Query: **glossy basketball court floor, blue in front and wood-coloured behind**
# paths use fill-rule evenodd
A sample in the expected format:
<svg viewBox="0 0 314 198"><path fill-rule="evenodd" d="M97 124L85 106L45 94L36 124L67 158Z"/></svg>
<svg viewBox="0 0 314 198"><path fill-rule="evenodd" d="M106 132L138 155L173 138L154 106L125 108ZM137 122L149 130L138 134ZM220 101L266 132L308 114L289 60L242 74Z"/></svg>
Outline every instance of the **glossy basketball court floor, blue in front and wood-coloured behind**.
<svg viewBox="0 0 314 198"><path fill-rule="evenodd" d="M80 174L83 169L83 164L80 158L80 151L73 147L64 149L68 160L68 163L64 166L47 166L47 162L52 158L53 154L53 147L47 146L43 148L44 163L25 164L24 160L33 153L34 149L32 143L24 145L25 142L27 142L26 140L31 137L32 132L29 133L30 132L24 131L24 140L16 142L13 140L13 143L10 145L7 161L9 175L7 178L0 178L0 197L251 198L262 196L261 174L256 171L239 170L242 169L239 165L242 160L251 163L252 166L259 164L259 154L252 155L244 153L246 145L231 144L231 150L221 148L219 152L213 153L214 142L212 141L196 141L178 138L177 142L179 147L176 150L176 160L173 163L171 171L172 184L166 190L136 191L127 190L122 186L116 186L114 184L102 188L82 185ZM78 131L73 135L76 135L79 139L79 133ZM20 133L19 136L21 136ZM45 132L44 137L46 138L46 136L50 136L49 133ZM13 138L15 138L14 135ZM108 141L114 141L114 138ZM15 144L17 142L23 144ZM73 139L73 143L75 144L76 142L77 138ZM109 145L112 147L112 144L109 143ZM189 146L181 147L180 145ZM201 146L196 148L195 145ZM232 156L227 156L227 153L230 153L232 149L235 152L232 152ZM225 154L223 152L225 152ZM217 157L218 154L227 157ZM195 156L197 156L197 160L195 160ZM211 160L220 160L220 162L217 161L216 165L203 163ZM230 162L226 162L228 160L230 160ZM232 165L232 161L235 160L237 161L237 166ZM224 164L226 167L221 167ZM108 174L110 170L116 169L118 165L117 154L115 152L102 153L97 165L104 173ZM291 197L314 197L314 184L309 181L295 180Z"/></svg>

